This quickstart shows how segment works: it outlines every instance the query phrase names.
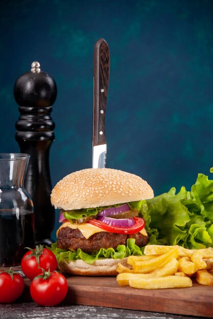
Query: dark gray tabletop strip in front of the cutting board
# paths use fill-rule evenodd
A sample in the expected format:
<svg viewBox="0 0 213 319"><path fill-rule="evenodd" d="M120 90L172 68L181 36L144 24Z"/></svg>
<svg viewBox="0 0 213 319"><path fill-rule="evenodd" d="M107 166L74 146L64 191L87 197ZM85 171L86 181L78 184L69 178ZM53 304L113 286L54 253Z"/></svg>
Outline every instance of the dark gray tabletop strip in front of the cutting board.
<svg viewBox="0 0 213 319"><path fill-rule="evenodd" d="M34 302L0 304L1 319L46 319L46 318L132 318L132 319L201 319L204 317L183 316L159 312L147 312L107 307L60 305L40 307Z"/></svg>

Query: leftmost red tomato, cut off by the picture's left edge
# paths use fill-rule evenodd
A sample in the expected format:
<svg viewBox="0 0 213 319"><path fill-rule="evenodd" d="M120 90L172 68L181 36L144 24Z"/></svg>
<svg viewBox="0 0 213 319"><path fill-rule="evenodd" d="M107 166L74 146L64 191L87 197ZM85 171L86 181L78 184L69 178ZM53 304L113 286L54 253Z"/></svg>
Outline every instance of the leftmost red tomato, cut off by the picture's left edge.
<svg viewBox="0 0 213 319"><path fill-rule="evenodd" d="M0 303L11 303L23 292L25 284L19 274L15 274L10 268L9 271L0 273Z"/></svg>

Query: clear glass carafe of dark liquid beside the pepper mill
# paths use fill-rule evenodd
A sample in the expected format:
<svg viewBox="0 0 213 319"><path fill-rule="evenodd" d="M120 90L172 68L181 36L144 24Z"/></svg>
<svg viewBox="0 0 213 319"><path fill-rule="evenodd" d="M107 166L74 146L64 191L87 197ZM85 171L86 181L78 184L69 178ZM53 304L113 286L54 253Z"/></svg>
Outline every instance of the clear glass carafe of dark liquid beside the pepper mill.
<svg viewBox="0 0 213 319"><path fill-rule="evenodd" d="M23 187L30 155L0 154L0 266L20 265L25 247L35 247L31 196Z"/></svg>

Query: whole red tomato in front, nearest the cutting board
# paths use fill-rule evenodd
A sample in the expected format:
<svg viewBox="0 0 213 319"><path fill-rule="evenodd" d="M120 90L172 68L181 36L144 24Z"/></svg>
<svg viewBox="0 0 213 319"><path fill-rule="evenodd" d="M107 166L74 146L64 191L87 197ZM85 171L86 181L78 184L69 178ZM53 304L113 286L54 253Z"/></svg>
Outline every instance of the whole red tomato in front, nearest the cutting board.
<svg viewBox="0 0 213 319"><path fill-rule="evenodd" d="M55 306L66 297L67 289L67 281L62 274L43 272L31 282L30 294L40 306Z"/></svg>

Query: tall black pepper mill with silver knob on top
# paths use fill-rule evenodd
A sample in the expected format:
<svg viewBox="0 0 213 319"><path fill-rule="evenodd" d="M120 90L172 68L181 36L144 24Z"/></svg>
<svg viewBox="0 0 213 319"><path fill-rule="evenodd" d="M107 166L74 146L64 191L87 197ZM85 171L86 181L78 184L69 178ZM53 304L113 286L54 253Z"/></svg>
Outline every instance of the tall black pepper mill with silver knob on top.
<svg viewBox="0 0 213 319"><path fill-rule="evenodd" d="M15 138L21 153L30 154L25 188L32 196L35 208L36 244L42 245L53 243L51 233L55 223L55 209L50 201L49 152L55 139L55 124L50 114L56 96L54 79L41 72L38 62L33 62L31 72L20 75L14 85L14 97L20 112L15 124Z"/></svg>

